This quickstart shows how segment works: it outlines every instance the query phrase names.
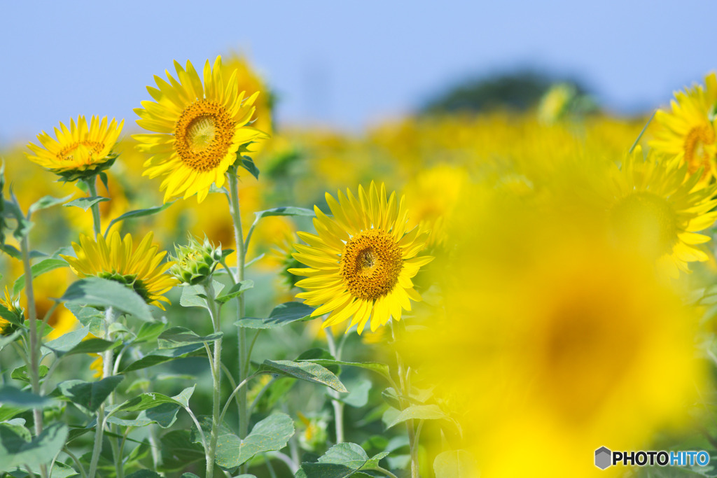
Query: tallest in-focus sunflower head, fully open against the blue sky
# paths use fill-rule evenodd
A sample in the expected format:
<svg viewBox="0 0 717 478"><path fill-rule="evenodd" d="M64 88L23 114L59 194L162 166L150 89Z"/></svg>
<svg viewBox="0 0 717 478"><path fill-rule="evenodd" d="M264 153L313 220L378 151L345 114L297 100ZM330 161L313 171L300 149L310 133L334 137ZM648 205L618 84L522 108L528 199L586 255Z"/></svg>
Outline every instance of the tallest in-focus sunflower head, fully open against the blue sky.
<svg viewBox="0 0 717 478"><path fill-rule="evenodd" d="M179 80L169 72L169 83L155 77L158 88L147 87L155 101L143 101L143 108L135 110L141 118L137 124L155 133L133 138L139 141L139 150L152 155L143 174L166 176L161 184L164 201L196 193L201 202L212 184L222 187L237 152L247 151L248 143L268 135L248 126L259 92L244 98L237 89L237 70L225 81L221 57L213 68L206 60L204 84L191 62L186 62L186 70L179 62L174 67Z"/></svg>

